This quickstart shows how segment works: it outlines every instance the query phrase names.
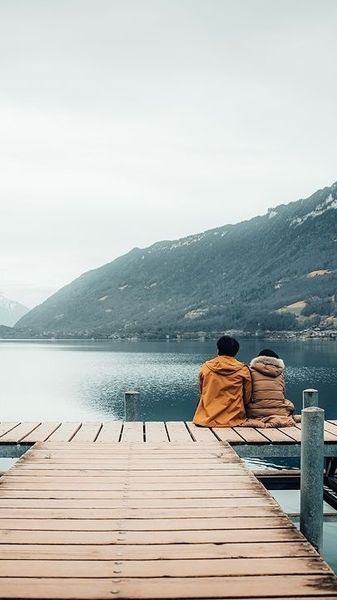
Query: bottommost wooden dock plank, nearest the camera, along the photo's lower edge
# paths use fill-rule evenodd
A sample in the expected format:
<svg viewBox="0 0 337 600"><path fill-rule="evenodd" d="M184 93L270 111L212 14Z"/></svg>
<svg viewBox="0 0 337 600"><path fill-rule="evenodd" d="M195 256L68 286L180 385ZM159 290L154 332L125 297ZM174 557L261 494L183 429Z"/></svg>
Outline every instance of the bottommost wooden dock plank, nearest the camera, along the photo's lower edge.
<svg viewBox="0 0 337 600"><path fill-rule="evenodd" d="M337 597L335 578L319 575L265 575L246 577L148 578L3 578L1 598L100 599L117 598L320 598Z"/></svg>

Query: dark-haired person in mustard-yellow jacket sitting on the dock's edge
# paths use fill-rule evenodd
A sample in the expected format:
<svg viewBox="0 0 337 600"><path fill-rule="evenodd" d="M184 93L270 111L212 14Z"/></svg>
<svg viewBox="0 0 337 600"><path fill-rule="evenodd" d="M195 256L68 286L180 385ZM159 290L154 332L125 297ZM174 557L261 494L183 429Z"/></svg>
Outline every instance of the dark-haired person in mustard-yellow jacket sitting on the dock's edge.
<svg viewBox="0 0 337 600"><path fill-rule="evenodd" d="M235 358L239 342L224 335L217 348L218 356L200 369L200 400L193 423L204 427L248 425L245 405L251 398L252 383L247 365Z"/></svg>

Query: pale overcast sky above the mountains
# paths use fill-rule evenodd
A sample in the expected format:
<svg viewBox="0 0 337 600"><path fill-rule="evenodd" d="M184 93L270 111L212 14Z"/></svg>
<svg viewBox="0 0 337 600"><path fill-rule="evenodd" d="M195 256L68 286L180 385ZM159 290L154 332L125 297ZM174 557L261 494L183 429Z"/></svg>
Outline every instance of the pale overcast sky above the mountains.
<svg viewBox="0 0 337 600"><path fill-rule="evenodd" d="M0 292L337 179L336 0L0 0Z"/></svg>

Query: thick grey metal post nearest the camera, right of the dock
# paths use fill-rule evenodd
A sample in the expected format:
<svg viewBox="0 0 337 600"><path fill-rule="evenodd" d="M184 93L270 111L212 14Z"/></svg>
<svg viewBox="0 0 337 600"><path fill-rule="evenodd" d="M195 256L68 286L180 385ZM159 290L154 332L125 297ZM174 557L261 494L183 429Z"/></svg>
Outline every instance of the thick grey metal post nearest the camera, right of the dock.
<svg viewBox="0 0 337 600"><path fill-rule="evenodd" d="M323 542L324 410L302 410L300 529L321 551Z"/></svg>

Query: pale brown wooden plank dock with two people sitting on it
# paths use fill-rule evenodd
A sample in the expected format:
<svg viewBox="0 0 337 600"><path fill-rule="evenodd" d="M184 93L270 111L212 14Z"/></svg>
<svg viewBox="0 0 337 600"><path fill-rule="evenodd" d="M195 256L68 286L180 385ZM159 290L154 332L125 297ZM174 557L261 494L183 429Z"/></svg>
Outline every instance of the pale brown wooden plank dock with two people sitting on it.
<svg viewBox="0 0 337 600"><path fill-rule="evenodd" d="M244 428L12 425L3 445L48 441L0 480L0 598L337 598L331 570L220 439Z"/></svg>

